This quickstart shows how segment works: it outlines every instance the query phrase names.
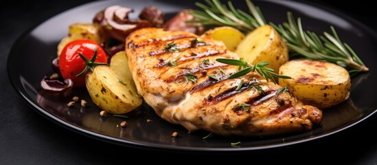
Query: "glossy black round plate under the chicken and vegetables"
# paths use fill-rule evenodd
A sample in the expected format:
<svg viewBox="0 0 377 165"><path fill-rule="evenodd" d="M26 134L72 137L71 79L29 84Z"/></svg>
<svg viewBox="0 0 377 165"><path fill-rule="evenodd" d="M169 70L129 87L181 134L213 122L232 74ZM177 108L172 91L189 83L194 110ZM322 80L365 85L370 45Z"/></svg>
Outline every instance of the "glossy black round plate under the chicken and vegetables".
<svg viewBox="0 0 377 165"><path fill-rule="evenodd" d="M58 14L25 32L13 45L8 58L8 74L16 91L38 113L67 129L82 133L98 140L137 148L174 151L250 151L262 148L275 148L315 140L350 128L369 118L376 112L377 102L369 98L377 93L376 65L377 36L365 25L341 13L295 1L254 1L259 5L267 20L273 23L286 21L286 11L292 11L295 17L301 17L305 29L320 34L334 25L342 41L353 47L360 58L369 67L370 72L352 78L351 97L332 109L323 111L323 125L304 133L293 133L273 137L220 137L207 140L207 132L187 133L182 126L161 120L147 104L133 111L129 119L108 117L100 118L98 107L90 102L85 89L72 94L50 94L41 91L40 81L46 74L52 74L51 62L56 57L56 45L67 35L71 23L90 23L94 14L108 5L119 4L135 9L131 18L145 5L156 5L168 16L184 8L195 8L192 1L96 1ZM245 9L244 1L233 1L237 8ZM89 107L68 109L66 104L73 97L79 96L89 101ZM147 119L152 122L146 122ZM125 129L117 124L126 120ZM179 137L172 138L174 131ZM238 147L231 142L242 142Z"/></svg>

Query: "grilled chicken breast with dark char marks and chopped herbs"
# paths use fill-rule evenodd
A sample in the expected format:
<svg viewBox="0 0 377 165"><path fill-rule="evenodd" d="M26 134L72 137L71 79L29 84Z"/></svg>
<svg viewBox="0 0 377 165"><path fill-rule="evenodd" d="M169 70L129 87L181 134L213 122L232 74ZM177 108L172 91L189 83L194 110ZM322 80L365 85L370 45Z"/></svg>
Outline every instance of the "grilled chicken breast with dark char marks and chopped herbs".
<svg viewBox="0 0 377 165"><path fill-rule="evenodd" d="M190 132L272 135L310 130L321 123L321 110L289 92L277 92L282 87L257 72L228 79L238 67L216 58L240 57L209 37L143 28L126 38L126 54L146 103L164 120Z"/></svg>

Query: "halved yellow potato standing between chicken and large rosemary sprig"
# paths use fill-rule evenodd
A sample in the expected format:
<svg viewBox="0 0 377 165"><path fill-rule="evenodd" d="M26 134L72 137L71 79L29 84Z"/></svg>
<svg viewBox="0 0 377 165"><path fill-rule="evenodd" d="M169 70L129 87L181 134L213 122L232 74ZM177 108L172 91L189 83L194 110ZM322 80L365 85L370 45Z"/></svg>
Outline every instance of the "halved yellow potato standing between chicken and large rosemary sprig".
<svg viewBox="0 0 377 165"><path fill-rule="evenodd" d="M277 74L279 67L288 61L288 50L282 37L270 25L263 25L247 34L238 44L236 53L250 64L269 62Z"/></svg>

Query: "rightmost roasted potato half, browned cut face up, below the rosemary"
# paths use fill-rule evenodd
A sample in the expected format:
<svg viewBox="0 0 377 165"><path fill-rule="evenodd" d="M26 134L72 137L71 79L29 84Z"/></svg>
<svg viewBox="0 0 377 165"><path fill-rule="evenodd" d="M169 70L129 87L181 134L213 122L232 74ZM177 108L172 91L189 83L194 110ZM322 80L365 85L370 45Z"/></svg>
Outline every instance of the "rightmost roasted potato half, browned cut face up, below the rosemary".
<svg viewBox="0 0 377 165"><path fill-rule="evenodd" d="M351 78L346 69L333 63L310 60L288 61L280 67L279 85L288 86L290 92L306 104L326 109L347 100Z"/></svg>

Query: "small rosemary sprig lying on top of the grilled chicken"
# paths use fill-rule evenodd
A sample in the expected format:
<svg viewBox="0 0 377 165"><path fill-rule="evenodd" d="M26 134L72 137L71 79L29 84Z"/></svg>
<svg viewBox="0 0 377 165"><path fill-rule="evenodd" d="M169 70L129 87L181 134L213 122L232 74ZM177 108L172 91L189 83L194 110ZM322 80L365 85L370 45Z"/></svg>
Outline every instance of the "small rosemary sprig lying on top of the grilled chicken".
<svg viewBox="0 0 377 165"><path fill-rule="evenodd" d="M225 63L227 65L236 65L238 66L238 72L231 74L229 76L229 79L232 78L238 78L240 76L244 76L245 74L248 74L249 72L255 72L255 70L267 81L272 80L273 83L277 84L275 81L275 78L284 78L288 79L289 76L284 76L280 74L275 74L274 70L266 67L266 65L269 65L268 62L261 62L258 64L250 65L247 63L247 61L244 61L242 58L239 60L237 59L229 59L229 58L216 58L216 61L219 63Z"/></svg>

